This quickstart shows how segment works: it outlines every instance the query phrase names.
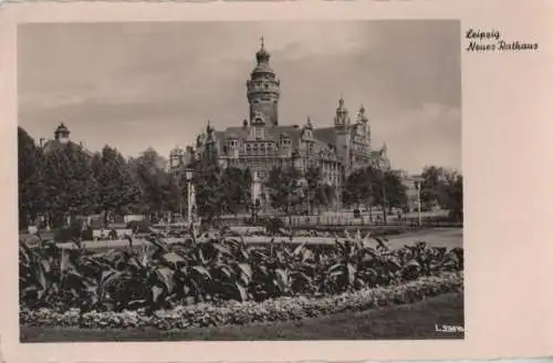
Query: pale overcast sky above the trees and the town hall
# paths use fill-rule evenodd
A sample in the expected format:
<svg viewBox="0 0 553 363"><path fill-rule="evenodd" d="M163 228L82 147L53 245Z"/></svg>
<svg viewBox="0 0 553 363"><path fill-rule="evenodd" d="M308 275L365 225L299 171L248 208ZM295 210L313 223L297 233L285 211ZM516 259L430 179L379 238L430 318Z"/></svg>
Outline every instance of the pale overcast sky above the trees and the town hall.
<svg viewBox="0 0 553 363"><path fill-rule="evenodd" d="M281 80L281 125L331 126L341 94L364 104L395 168L461 169L458 21L32 24L18 30L19 122L35 139L65 122L91 151L167 156L207 120L248 115L260 37Z"/></svg>

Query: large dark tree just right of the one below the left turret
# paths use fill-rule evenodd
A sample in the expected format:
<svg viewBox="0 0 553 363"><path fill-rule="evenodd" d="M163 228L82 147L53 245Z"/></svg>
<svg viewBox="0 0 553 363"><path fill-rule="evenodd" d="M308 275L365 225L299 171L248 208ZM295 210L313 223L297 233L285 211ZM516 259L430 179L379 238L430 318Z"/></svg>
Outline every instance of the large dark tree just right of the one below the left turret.
<svg viewBox="0 0 553 363"><path fill-rule="evenodd" d="M140 187L123 155L104 146L92 158L92 170L98 183L98 211L124 215L138 209Z"/></svg>

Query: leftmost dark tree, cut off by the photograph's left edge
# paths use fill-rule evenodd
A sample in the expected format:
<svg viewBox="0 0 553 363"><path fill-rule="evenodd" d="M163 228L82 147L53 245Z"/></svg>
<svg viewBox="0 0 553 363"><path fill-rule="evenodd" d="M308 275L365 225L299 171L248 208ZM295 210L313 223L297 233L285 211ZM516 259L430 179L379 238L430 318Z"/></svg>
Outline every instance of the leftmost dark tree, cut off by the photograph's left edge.
<svg viewBox="0 0 553 363"><path fill-rule="evenodd" d="M44 211L44 187L42 185L42 153L34 139L18 127L18 197L19 225L27 228Z"/></svg>

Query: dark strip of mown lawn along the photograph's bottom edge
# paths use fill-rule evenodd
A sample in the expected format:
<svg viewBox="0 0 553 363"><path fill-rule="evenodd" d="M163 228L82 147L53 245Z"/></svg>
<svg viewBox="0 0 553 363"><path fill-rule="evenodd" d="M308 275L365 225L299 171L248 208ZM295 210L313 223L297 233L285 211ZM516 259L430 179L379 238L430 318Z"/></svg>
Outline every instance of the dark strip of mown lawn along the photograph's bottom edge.
<svg viewBox="0 0 553 363"><path fill-rule="evenodd" d="M341 313L296 322L246 326L194 328L179 331L105 330L21 326L29 342L98 341L252 341L252 340L411 340L463 339L463 333L440 333L435 324L465 325L462 293L365 312Z"/></svg>

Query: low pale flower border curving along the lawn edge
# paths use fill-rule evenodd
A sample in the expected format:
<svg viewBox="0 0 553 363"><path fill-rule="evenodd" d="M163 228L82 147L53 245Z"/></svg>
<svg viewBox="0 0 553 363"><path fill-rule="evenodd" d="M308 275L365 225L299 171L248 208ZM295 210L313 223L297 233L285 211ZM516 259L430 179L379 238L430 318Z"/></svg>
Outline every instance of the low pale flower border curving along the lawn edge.
<svg viewBox="0 0 553 363"><path fill-rule="evenodd" d="M156 311L153 314L147 314L145 309L85 313L79 309L65 312L55 312L45 308L22 309L20 323L28 326L157 328L161 330L226 324L243 325L411 303L440 293L459 291L462 287L462 272L445 272L436 277L422 277L399 286L362 289L323 298L294 297L269 299L262 302L200 303L187 307L178 305L169 310Z"/></svg>

